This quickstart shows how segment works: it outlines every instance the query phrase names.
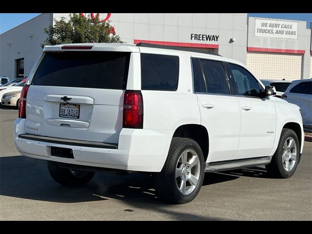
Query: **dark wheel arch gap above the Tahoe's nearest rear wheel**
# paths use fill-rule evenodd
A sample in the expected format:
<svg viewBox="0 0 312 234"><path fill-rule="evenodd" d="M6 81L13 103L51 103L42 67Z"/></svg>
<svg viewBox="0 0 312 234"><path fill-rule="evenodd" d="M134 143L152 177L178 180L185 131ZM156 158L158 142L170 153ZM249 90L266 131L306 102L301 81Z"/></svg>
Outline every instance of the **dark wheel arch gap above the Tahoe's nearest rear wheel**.
<svg viewBox="0 0 312 234"><path fill-rule="evenodd" d="M195 140L203 152L206 162L209 153L209 135L207 129L200 124L184 124L179 126L172 137L184 137Z"/></svg>

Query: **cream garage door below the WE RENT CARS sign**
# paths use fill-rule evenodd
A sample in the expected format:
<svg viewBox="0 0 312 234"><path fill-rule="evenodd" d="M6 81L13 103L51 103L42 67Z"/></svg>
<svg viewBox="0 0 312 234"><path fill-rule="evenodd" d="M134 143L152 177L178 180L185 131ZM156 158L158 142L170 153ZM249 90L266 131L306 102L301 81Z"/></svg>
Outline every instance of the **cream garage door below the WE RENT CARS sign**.
<svg viewBox="0 0 312 234"><path fill-rule="evenodd" d="M247 67L260 79L301 79L301 54L247 52Z"/></svg>

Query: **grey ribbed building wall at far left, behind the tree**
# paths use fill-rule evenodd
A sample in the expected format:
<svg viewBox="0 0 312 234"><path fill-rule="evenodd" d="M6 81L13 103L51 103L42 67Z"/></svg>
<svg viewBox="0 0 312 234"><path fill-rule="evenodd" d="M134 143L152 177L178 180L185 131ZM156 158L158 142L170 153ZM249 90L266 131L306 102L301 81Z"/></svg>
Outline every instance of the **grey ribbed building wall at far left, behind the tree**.
<svg viewBox="0 0 312 234"><path fill-rule="evenodd" d="M52 22L52 14L44 13L0 35L0 76L16 78L15 59L24 58L24 76L28 76L47 38L43 29ZM32 37L30 37L32 36Z"/></svg>

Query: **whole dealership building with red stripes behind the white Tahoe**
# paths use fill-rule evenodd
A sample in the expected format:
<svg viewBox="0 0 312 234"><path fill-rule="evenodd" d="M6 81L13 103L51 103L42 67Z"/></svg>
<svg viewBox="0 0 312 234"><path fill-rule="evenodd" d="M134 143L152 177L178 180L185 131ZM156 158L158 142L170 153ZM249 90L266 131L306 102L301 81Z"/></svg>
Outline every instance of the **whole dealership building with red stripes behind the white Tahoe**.
<svg viewBox="0 0 312 234"><path fill-rule="evenodd" d="M47 38L43 29L69 13L43 13L0 35L0 76L28 76ZM126 43L195 47L247 65L262 79L312 78L312 36L305 21L246 13L80 13L109 20Z"/></svg>

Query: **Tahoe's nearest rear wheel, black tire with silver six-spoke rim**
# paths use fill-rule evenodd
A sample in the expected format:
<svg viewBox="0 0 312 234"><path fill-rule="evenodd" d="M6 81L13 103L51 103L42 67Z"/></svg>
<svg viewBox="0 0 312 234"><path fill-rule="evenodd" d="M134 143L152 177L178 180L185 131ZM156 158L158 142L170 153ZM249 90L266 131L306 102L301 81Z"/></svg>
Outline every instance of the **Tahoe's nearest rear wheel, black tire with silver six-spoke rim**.
<svg viewBox="0 0 312 234"><path fill-rule="evenodd" d="M192 201L204 179L204 156L192 139L174 137L165 165L155 175L156 193L173 204Z"/></svg>

